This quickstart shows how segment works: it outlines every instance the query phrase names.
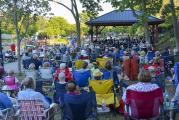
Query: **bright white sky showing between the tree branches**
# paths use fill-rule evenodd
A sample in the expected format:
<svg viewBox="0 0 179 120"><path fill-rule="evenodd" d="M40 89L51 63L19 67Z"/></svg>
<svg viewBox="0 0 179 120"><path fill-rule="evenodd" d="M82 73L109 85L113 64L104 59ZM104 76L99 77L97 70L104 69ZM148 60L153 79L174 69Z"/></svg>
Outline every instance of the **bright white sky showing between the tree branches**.
<svg viewBox="0 0 179 120"><path fill-rule="evenodd" d="M70 0L59 0L59 1L62 1L62 3L64 3L67 6L70 6L70 3L71 3ZM66 8L56 3L52 3L52 2L50 3L50 5L52 8L51 13L53 13L54 16L61 16L67 19L69 23L75 23L72 14ZM99 15L103 15L113 10L112 6L109 3L102 3L101 5L103 7L103 11L99 12ZM79 0L77 0L77 6L78 6L79 12L82 12L83 9L82 9L81 4L79 3Z"/></svg>

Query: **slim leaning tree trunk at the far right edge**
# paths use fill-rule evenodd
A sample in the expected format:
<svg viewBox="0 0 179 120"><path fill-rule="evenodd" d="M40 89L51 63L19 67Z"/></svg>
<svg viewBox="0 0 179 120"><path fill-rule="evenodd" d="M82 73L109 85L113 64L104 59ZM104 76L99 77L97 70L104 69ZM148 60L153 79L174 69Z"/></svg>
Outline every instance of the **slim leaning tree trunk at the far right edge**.
<svg viewBox="0 0 179 120"><path fill-rule="evenodd" d="M176 39L176 49L177 52L179 52L179 29L178 29L178 23L177 23L177 16L175 11L175 4L173 0L170 0L170 7L172 12L172 21L173 21L173 29L174 29L174 35Z"/></svg>

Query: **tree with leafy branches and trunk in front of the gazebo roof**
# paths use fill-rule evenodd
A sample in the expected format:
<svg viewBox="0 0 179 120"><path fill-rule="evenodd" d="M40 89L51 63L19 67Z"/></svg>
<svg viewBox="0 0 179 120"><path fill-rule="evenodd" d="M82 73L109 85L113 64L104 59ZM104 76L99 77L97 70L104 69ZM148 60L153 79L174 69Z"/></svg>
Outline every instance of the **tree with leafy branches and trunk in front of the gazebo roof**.
<svg viewBox="0 0 179 120"><path fill-rule="evenodd" d="M150 34L148 30L148 17L158 13L162 7L162 0L107 0L113 7L119 10L131 9L135 17L139 18L139 22L143 25L145 39L150 42ZM135 10L140 10L139 15Z"/></svg>

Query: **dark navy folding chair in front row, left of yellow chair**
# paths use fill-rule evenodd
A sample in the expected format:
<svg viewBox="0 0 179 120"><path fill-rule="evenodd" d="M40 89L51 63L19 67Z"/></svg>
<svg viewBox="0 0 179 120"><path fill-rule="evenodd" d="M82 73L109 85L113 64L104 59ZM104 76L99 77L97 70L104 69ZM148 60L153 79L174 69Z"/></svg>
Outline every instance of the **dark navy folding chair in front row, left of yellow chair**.
<svg viewBox="0 0 179 120"><path fill-rule="evenodd" d="M64 95L63 120L86 120L96 118L95 93Z"/></svg>

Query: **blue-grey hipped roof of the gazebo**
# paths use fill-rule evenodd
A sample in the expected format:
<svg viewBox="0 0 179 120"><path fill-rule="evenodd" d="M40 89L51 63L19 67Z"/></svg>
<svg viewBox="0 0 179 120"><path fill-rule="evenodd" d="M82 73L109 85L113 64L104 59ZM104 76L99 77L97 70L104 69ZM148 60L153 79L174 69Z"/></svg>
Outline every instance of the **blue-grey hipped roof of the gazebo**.
<svg viewBox="0 0 179 120"><path fill-rule="evenodd" d="M141 11L135 11L139 16ZM154 16L149 16L149 25L158 25L164 21ZM86 24L91 26L131 26L138 22L138 19L133 15L132 10L114 10L106 13L96 19L88 21Z"/></svg>

